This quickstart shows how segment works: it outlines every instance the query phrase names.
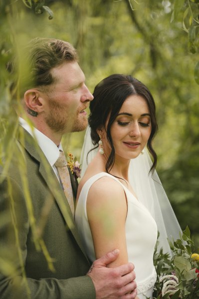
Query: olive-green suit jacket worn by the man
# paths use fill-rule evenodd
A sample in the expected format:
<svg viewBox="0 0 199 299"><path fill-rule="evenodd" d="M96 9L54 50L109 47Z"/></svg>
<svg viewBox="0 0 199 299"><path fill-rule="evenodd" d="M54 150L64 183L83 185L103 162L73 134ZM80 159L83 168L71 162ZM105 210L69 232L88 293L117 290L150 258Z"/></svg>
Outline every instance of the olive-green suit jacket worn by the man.
<svg viewBox="0 0 199 299"><path fill-rule="evenodd" d="M0 299L94 299L63 190L34 139L20 132L8 171L0 169ZM75 195L72 175L71 184Z"/></svg>

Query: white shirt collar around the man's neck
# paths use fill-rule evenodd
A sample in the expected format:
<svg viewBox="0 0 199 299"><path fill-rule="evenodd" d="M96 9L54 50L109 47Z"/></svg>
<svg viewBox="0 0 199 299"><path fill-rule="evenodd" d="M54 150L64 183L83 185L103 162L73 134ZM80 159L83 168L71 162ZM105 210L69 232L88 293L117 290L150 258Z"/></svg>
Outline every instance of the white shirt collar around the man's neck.
<svg viewBox="0 0 199 299"><path fill-rule="evenodd" d="M41 133L35 127L30 126L27 121L19 117L19 124L38 142L39 147L46 156L48 162L51 166L57 161L59 157L59 150L63 151L61 143L56 146L56 144L48 138L46 135Z"/></svg>

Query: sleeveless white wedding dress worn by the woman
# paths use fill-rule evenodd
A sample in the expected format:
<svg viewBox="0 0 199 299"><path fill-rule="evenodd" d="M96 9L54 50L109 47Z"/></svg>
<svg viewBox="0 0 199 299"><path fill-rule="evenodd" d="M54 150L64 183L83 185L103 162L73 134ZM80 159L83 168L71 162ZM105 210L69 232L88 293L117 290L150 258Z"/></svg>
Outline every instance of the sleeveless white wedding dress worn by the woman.
<svg viewBox="0 0 199 299"><path fill-rule="evenodd" d="M139 299L152 298L153 287L157 278L153 264L153 254L158 234L156 222L146 207L117 178L105 172L91 177L84 184L77 202L75 222L87 256L91 262L95 260L93 241L86 212L87 195L92 184L105 176L117 181L126 193L128 205L126 218L128 260L135 265Z"/></svg>

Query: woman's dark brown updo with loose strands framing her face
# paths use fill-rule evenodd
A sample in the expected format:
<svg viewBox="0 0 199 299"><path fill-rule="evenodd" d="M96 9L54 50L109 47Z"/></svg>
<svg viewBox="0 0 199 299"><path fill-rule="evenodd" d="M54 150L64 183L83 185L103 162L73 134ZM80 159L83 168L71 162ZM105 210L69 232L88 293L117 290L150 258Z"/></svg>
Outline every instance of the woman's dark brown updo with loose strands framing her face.
<svg viewBox="0 0 199 299"><path fill-rule="evenodd" d="M152 141L158 131L154 98L149 89L136 78L130 75L114 74L103 79L95 86L93 92L94 99L90 102L90 116L88 118L93 145L98 146L100 140L97 130L103 128L106 130L107 140L111 146L111 153L106 163L107 173L109 173L115 162L115 148L110 129L124 101L131 95L143 97L149 107L151 115L151 135L147 142L147 148L154 160L150 172L154 172L157 164L157 154L152 146ZM109 121L106 128L108 117Z"/></svg>

